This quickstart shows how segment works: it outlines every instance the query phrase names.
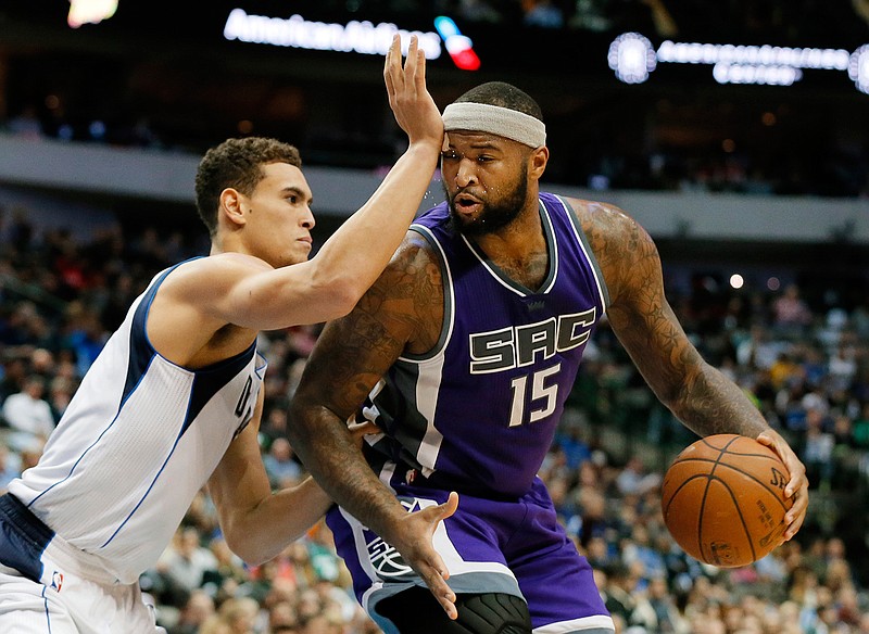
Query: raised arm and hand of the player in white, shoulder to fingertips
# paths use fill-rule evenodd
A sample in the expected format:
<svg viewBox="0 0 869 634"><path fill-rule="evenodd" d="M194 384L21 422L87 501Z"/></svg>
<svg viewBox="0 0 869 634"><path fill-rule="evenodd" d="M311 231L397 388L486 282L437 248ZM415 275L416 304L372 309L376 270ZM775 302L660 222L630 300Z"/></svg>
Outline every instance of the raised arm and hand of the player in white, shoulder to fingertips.
<svg viewBox="0 0 869 634"><path fill-rule="evenodd" d="M310 261L273 268L241 253L185 265L161 292L172 313L186 309L210 333L227 324L274 330L347 315L386 267L428 191L443 143L440 111L426 89L426 58L416 37L402 63L401 38L387 54L383 77L408 148L368 201L326 240ZM298 199L298 200L297 200ZM306 205L301 195L290 201ZM188 320L189 321L189 320Z"/></svg>

